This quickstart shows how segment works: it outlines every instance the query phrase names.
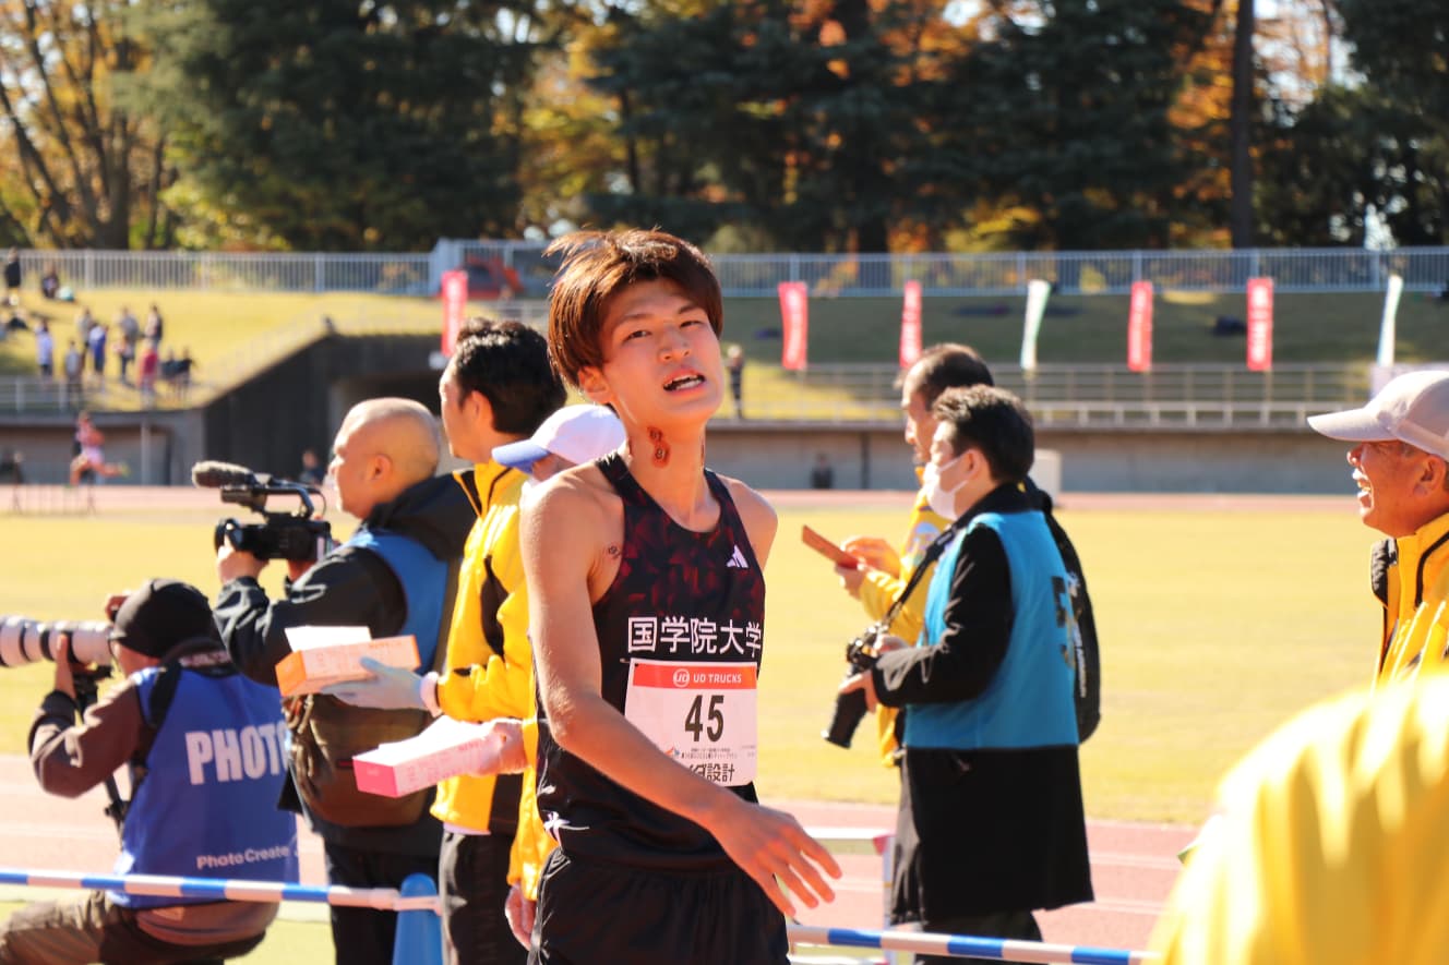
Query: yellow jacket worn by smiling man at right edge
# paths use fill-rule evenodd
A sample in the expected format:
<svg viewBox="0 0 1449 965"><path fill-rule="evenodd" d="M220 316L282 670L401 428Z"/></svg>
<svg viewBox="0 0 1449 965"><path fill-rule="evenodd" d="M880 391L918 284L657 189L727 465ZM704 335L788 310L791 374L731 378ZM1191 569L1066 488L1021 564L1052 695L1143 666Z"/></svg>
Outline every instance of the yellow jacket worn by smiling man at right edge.
<svg viewBox="0 0 1449 965"><path fill-rule="evenodd" d="M1378 661L1381 685L1413 678L1420 664L1442 669L1449 629L1449 514L1395 543L1398 562L1388 568Z"/></svg>

